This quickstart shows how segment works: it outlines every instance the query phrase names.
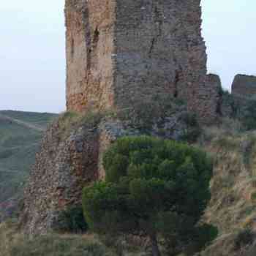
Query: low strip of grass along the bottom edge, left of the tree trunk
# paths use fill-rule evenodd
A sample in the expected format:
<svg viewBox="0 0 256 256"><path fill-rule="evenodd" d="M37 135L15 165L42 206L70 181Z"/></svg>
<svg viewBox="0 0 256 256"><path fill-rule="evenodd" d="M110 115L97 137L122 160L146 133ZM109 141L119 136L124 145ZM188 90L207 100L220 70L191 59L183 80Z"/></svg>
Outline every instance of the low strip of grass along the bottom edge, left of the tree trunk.
<svg viewBox="0 0 256 256"><path fill-rule="evenodd" d="M142 246L122 237L49 233L29 238L17 222L0 225L0 256L147 256ZM150 254L149 254L150 255Z"/></svg>

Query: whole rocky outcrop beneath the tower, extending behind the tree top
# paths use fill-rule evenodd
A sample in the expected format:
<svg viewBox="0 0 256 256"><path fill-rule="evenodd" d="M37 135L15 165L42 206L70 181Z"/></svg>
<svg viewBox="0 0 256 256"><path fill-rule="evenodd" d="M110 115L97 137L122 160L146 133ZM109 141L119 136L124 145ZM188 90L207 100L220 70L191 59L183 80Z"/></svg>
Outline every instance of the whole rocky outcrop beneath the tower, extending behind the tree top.
<svg viewBox="0 0 256 256"><path fill-rule="evenodd" d="M117 138L146 132L179 140L190 130L194 137L197 127L187 121L189 113L182 109L151 124L146 131L135 127L129 119L81 117L77 123L76 118L68 119L69 113L61 116L42 140L24 192L20 224L26 233L42 234L54 229L61 212L80 205L83 187L105 178L102 157Z"/></svg>

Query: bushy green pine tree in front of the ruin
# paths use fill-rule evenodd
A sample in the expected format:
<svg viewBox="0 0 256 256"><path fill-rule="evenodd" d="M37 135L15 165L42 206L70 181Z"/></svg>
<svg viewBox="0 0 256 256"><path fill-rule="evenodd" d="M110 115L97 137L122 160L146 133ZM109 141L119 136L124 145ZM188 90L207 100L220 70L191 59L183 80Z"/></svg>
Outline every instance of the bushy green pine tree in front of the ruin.
<svg viewBox="0 0 256 256"><path fill-rule="evenodd" d="M83 189L83 210L98 233L144 233L193 240L211 194L211 160L197 148L146 136L116 141L104 156L106 181ZM206 233L206 230L204 230ZM172 252L170 252L171 255Z"/></svg>

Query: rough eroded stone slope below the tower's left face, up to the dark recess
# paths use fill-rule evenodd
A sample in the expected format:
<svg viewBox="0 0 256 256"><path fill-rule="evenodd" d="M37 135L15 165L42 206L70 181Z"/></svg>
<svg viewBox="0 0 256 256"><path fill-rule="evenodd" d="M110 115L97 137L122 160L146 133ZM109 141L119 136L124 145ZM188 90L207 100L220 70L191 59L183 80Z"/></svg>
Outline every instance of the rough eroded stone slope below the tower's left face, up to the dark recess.
<svg viewBox="0 0 256 256"><path fill-rule="evenodd" d="M66 139L53 124L42 140L24 193L20 217L27 233L45 233L66 206L80 203L85 184L96 181L97 132L80 127Z"/></svg>

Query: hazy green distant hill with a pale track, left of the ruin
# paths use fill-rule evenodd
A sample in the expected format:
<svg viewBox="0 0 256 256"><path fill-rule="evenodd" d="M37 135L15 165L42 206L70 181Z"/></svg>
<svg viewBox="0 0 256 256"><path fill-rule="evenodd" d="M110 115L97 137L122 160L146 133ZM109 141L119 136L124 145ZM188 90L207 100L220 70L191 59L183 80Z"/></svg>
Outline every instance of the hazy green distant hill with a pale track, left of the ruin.
<svg viewBox="0 0 256 256"><path fill-rule="evenodd" d="M3 208L20 194L42 134L56 116L0 110L0 219Z"/></svg>

